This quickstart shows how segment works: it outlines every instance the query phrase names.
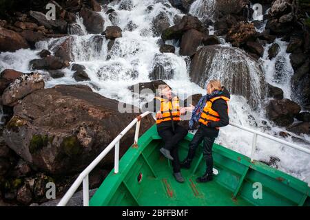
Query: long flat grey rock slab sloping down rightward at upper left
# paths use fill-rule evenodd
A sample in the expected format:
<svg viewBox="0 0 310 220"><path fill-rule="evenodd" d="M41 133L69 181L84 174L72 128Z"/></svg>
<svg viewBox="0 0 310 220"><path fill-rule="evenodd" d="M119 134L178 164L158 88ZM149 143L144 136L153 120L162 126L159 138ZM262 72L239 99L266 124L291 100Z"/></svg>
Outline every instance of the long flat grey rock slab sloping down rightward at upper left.
<svg viewBox="0 0 310 220"><path fill-rule="evenodd" d="M35 19L40 25L44 25L46 29L55 30L61 34L67 34L67 22L61 19L48 20L42 12L30 11L30 16Z"/></svg>

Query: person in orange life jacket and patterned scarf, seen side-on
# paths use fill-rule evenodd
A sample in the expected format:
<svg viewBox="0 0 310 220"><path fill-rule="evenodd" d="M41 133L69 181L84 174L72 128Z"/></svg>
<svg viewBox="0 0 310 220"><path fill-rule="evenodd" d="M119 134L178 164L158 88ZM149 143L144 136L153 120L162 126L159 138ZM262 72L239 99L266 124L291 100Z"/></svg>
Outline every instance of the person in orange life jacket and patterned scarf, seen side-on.
<svg viewBox="0 0 310 220"><path fill-rule="evenodd" d="M196 181L206 182L213 179L213 157L212 146L214 140L218 137L220 127L229 124L228 101L230 94L225 87L222 87L219 80L210 80L207 85L207 96L209 98L203 105L203 111L199 118L199 128L196 131L192 141L189 143L187 157L180 163L181 168L189 168L198 145L203 141L203 156L206 160L207 170L202 177ZM185 110L193 110L193 107L187 107Z"/></svg>

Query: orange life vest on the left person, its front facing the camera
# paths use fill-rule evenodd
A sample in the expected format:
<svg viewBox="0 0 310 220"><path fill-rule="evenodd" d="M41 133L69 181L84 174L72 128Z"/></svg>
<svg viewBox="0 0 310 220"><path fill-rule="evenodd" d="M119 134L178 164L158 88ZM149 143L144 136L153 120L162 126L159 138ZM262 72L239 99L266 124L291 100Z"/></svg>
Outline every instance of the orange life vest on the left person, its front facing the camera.
<svg viewBox="0 0 310 220"><path fill-rule="evenodd" d="M167 98L155 98L161 101L160 111L163 115L163 118L156 118L156 124L161 124L161 122L167 122L169 120L180 120L180 102L177 96L172 98L171 101L169 101Z"/></svg>

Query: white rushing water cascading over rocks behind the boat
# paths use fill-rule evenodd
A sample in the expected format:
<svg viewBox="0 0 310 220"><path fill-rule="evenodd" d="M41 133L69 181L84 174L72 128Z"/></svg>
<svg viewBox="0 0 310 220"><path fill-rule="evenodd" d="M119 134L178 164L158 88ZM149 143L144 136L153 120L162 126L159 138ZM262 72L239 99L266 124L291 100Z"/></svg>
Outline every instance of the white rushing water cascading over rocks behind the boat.
<svg viewBox="0 0 310 220"><path fill-rule="evenodd" d="M108 5L108 8L113 8L118 14L117 18L113 19L113 23L104 11L99 12L105 19L105 27L118 25L123 30L123 36L115 40L110 52L107 51L109 40L106 40L100 34L87 34L81 18L78 17L78 23L74 27L76 34L70 36L72 38L70 42L73 45L70 51L72 63L84 65L91 79L90 81L79 82L79 84L90 85L94 91L108 98L114 98L141 107L145 100L141 99L141 97L133 96L127 87L135 83L149 81L149 73L152 72L156 65L160 64L163 66L164 74L174 73L171 79L165 81L181 98L197 93L205 94L205 89L190 82L188 58L186 56L179 56L178 48L176 48L176 54L161 54L158 45L160 37L155 36L153 32L153 19L158 14L165 14L169 18L170 25L174 25L174 17L176 15L182 17L183 14L171 7L167 0L134 0L132 1L133 7L131 10L118 10L122 3L123 1L120 1L119 3L110 3ZM199 7L200 3L203 7ZM212 19L214 16L214 4L215 0L197 0L192 4L190 12L200 19ZM152 10L147 10L149 5L152 5ZM128 25L132 24L134 24L134 30L128 28ZM39 58L37 55L39 51L42 49L54 51L57 45L65 41L66 38L39 42L36 45L37 50L18 50L13 53L1 53L0 71L11 68L21 72L31 72L29 61ZM269 61L266 53L270 45L267 45L261 60L262 69L267 82L281 87L285 92L285 97L290 98L291 90L289 88L292 70L289 64L289 54L285 53L287 45L278 39L276 42L280 45L278 56ZM167 41L166 43L177 45L176 41ZM228 44L225 46L230 47ZM251 61L245 60L245 62L251 66ZM280 78L274 74L276 72L276 63L280 65L278 68ZM218 74L223 75L223 72L218 72L216 69L220 69L220 67L214 62L211 69L211 76L214 78L218 77ZM72 78L73 72L70 68L64 69L65 76L58 79L50 78L46 72L40 72L45 76L45 87L78 83ZM148 99L151 98L148 97ZM265 118L264 111L252 111L247 100L242 96L231 96L229 117L231 122L275 136L278 135L279 131L285 130L284 128L273 126ZM251 133L227 126L221 129L216 142L239 153L250 155L252 137L253 134ZM309 136L304 135L300 138L307 141L301 142L300 145L309 147L309 144L307 144L310 141ZM287 137L286 140L292 142L291 137ZM276 156L280 159L280 162L277 164L280 170L284 170L286 173L302 180L309 176L309 155L258 137L255 159L269 161L270 156Z"/></svg>

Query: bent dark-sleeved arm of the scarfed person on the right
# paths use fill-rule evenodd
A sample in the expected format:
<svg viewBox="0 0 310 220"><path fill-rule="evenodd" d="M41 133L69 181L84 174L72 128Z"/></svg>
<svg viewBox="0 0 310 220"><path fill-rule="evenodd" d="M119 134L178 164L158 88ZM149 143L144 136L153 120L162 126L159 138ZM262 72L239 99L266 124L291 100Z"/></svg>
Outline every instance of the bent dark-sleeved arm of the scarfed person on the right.
<svg viewBox="0 0 310 220"><path fill-rule="evenodd" d="M209 122L207 126L211 128L227 126L229 124L227 108L227 102L225 100L219 99L214 101L212 109L218 112L218 115L220 115L220 120L218 122Z"/></svg>

